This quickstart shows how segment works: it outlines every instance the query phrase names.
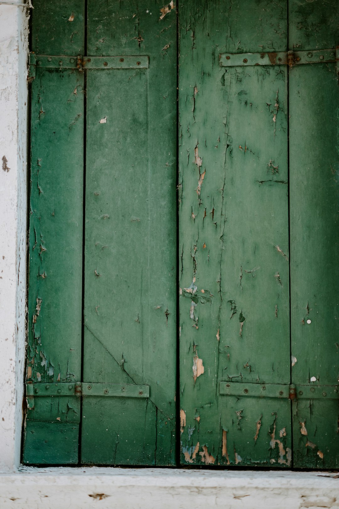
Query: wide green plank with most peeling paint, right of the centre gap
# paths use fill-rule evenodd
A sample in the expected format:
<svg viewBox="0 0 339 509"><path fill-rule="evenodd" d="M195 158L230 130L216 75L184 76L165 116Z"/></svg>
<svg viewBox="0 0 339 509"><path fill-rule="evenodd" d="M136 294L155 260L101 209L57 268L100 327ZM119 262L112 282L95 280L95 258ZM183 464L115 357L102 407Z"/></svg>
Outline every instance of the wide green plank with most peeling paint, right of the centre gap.
<svg viewBox="0 0 339 509"><path fill-rule="evenodd" d="M290 466L289 400L219 382L290 382L287 3L179 4L181 461Z"/></svg>

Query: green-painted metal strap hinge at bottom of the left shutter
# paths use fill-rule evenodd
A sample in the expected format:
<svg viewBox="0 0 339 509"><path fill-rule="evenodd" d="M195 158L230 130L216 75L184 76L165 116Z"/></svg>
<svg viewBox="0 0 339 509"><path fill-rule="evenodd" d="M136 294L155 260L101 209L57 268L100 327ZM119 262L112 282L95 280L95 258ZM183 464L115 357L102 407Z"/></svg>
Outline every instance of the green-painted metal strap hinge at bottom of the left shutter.
<svg viewBox="0 0 339 509"><path fill-rule="evenodd" d="M149 398L149 385L91 382L26 383L26 401L29 409L34 408L34 398L41 396Z"/></svg>

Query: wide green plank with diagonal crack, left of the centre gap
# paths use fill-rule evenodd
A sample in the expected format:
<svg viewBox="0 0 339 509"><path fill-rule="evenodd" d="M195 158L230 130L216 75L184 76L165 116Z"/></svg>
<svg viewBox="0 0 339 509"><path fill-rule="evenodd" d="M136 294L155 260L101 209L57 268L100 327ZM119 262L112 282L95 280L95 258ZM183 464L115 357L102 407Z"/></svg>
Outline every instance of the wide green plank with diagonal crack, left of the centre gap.
<svg viewBox="0 0 339 509"><path fill-rule="evenodd" d="M176 13L88 2L88 55L149 69L88 71L84 380L150 386L88 398L82 461L173 465L176 377Z"/></svg>

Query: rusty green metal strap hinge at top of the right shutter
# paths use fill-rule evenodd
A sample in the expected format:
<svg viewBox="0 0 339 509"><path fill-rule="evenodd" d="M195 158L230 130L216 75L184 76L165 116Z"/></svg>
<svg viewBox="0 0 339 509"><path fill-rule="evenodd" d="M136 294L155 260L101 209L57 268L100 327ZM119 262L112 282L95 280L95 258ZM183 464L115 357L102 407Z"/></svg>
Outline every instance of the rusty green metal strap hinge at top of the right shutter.
<svg viewBox="0 0 339 509"><path fill-rule="evenodd" d="M300 64L320 64L338 60L338 48L312 51L270 51L267 53L221 53L219 55L221 67L288 65L292 68Z"/></svg>

